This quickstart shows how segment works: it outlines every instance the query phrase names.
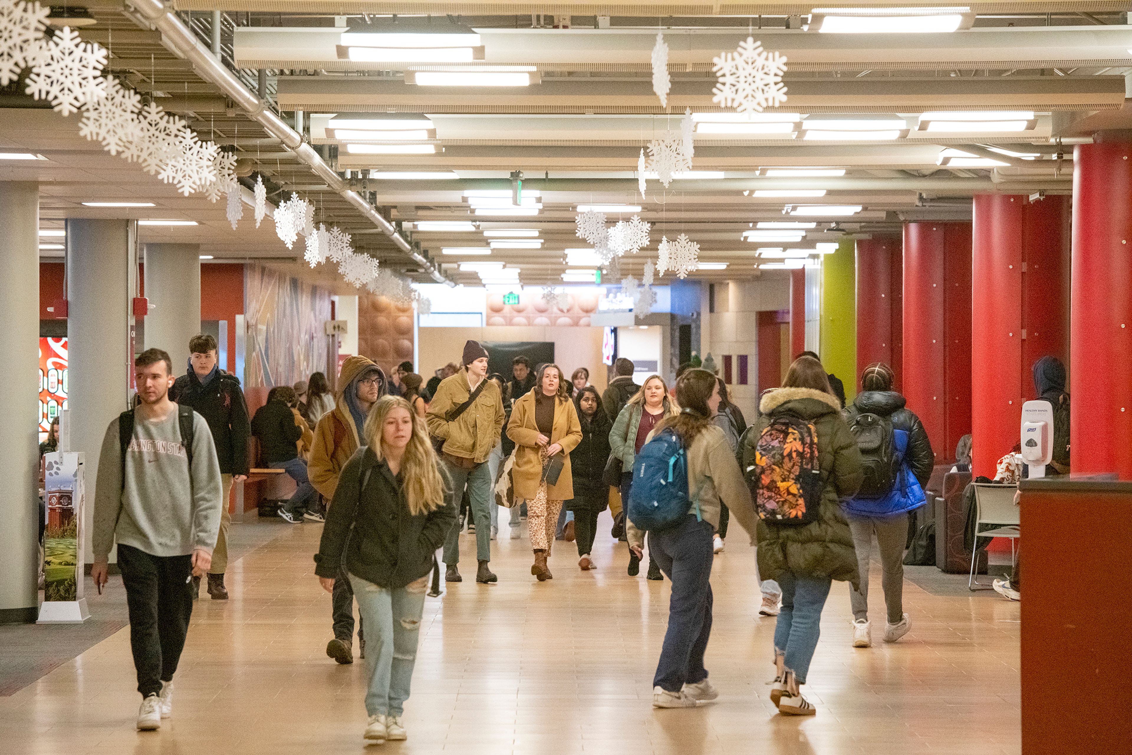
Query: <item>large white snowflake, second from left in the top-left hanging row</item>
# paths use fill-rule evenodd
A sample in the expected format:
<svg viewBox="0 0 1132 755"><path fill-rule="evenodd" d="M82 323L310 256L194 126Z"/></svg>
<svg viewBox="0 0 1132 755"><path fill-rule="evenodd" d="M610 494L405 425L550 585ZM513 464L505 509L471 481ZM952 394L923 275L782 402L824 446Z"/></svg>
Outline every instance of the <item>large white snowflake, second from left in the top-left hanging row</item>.
<svg viewBox="0 0 1132 755"><path fill-rule="evenodd" d="M25 92L36 100L48 100L59 114L70 115L84 104L106 96L106 79L102 78L105 65L103 48L83 42L65 26L43 42Z"/></svg>

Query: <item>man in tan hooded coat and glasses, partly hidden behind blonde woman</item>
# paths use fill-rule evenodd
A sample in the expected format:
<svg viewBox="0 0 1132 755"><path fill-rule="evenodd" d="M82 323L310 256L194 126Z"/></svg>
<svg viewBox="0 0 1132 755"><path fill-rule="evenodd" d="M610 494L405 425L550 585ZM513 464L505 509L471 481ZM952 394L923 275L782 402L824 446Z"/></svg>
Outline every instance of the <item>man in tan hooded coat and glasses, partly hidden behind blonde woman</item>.
<svg viewBox="0 0 1132 755"><path fill-rule="evenodd" d="M334 499L342 467L366 445L366 415L385 388L385 372L371 360L350 357L342 362L334 410L318 420L307 464L311 484L327 501ZM353 663L353 590L344 570L334 581L333 607L334 640L327 643L326 654L338 663ZM366 640L360 627L358 647L365 658Z"/></svg>

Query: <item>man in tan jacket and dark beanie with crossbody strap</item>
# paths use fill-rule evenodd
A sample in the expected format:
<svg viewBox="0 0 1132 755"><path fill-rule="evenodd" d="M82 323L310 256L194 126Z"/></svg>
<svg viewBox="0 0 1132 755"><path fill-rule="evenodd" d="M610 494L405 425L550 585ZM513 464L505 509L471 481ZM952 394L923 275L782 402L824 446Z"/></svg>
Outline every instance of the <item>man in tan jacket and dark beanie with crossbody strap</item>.
<svg viewBox="0 0 1132 755"><path fill-rule="evenodd" d="M491 560L491 470L487 464L491 449L499 443L503 430L503 396L499 388L487 379L488 352L477 341L464 344L464 369L445 378L432 396L428 414L428 430L444 440L441 458L452 481L449 497L458 509L460 499L468 487L472 516L475 517L475 558L479 569L475 581L488 584L497 577L488 568ZM477 393L478 392L478 393ZM473 398L466 406L469 400ZM460 569L460 525L448 532L444 543L445 582L462 582Z"/></svg>

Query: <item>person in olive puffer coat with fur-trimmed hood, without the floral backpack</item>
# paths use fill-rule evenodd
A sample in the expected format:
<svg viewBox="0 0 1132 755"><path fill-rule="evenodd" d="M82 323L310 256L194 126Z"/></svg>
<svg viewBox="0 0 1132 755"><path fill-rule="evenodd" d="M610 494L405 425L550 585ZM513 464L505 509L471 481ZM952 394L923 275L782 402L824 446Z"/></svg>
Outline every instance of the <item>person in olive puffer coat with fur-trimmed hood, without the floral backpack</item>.
<svg viewBox="0 0 1132 755"><path fill-rule="evenodd" d="M817 520L805 525L763 520L757 538L758 572L782 587L782 609L774 629L771 700L782 713L812 715L815 709L801 696L799 686L806 683L817 647L822 608L833 580L850 582L855 587L858 584L857 554L840 501L860 487L861 457L821 362L799 357L782 385L763 395L758 421L744 435L739 453L743 469L754 465L762 431L784 414L812 423L817 435L823 482Z"/></svg>

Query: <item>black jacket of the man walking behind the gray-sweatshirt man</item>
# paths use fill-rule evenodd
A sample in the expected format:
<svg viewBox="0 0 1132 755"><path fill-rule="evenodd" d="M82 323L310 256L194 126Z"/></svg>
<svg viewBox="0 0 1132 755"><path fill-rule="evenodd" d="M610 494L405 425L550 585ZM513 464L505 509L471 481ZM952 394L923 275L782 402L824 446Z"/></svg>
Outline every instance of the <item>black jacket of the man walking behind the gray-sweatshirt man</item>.
<svg viewBox="0 0 1132 755"><path fill-rule="evenodd" d="M186 375L173 381L169 397L179 404L191 406L205 418L216 446L216 461L221 474L248 473L248 404L240 389L240 378L221 372L200 385L200 379L190 367Z"/></svg>

